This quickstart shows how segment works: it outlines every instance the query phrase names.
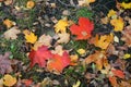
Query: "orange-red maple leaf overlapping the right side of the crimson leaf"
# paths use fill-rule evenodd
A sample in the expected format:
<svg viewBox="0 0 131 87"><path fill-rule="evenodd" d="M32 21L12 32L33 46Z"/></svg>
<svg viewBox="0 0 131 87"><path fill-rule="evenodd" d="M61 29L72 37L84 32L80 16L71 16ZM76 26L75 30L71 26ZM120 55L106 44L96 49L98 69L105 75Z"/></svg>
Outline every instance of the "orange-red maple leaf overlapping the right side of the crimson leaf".
<svg viewBox="0 0 131 87"><path fill-rule="evenodd" d="M47 63L47 69L50 72L55 72L56 74L59 74L69 64L70 64L70 57L68 52L64 51L62 55L53 54L53 58L50 59Z"/></svg>

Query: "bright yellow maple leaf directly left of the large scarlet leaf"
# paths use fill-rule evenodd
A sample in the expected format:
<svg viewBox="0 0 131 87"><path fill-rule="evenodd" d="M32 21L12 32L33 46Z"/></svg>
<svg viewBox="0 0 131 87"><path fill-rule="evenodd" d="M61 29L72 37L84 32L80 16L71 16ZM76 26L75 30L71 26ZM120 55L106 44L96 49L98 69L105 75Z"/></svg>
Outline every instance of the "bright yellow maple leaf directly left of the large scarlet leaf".
<svg viewBox="0 0 131 87"><path fill-rule="evenodd" d="M55 25L55 32L56 33L67 33L67 27L69 26L68 20L63 18L58 21L58 23Z"/></svg>

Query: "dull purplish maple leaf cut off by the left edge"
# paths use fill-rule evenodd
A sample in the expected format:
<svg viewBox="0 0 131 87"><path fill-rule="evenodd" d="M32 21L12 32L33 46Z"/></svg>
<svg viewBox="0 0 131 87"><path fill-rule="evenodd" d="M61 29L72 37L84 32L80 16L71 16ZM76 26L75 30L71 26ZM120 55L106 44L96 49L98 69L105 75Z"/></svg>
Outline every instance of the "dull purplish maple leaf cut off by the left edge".
<svg viewBox="0 0 131 87"><path fill-rule="evenodd" d="M4 55L0 54L0 74L11 73L11 61L9 60L9 52L5 52Z"/></svg>

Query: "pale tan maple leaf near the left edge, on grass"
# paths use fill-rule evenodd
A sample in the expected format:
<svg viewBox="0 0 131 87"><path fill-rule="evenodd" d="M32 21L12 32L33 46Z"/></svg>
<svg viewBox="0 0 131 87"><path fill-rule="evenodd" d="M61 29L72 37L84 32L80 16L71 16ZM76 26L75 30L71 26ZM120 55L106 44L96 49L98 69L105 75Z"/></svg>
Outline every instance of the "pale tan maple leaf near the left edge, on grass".
<svg viewBox="0 0 131 87"><path fill-rule="evenodd" d="M17 34L20 34L20 33L21 33L21 30L14 26L14 27L10 28L9 30L7 30L3 35L4 35L4 38L7 38L7 39L16 39Z"/></svg>

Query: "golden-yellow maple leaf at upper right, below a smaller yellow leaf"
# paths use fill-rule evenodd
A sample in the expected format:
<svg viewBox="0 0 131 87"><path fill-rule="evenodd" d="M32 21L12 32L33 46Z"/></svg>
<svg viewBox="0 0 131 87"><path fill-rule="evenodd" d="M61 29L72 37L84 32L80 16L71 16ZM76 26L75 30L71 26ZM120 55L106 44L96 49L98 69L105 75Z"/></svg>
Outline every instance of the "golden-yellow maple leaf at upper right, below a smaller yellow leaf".
<svg viewBox="0 0 131 87"><path fill-rule="evenodd" d="M115 32L121 32L124 25L123 20L121 17L111 20L110 24L115 27Z"/></svg>

